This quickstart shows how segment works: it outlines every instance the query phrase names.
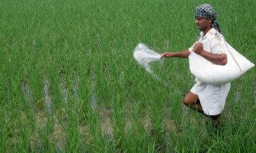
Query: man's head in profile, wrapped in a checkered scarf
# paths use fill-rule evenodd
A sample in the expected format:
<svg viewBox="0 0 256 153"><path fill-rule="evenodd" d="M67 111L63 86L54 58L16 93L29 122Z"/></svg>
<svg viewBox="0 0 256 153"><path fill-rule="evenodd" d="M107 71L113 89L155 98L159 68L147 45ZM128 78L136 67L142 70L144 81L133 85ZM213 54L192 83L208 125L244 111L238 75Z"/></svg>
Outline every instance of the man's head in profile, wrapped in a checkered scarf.
<svg viewBox="0 0 256 153"><path fill-rule="evenodd" d="M198 29L204 31L207 27L214 27L217 31L222 33L220 25L216 22L217 13L210 4L202 4L195 8L195 22Z"/></svg>

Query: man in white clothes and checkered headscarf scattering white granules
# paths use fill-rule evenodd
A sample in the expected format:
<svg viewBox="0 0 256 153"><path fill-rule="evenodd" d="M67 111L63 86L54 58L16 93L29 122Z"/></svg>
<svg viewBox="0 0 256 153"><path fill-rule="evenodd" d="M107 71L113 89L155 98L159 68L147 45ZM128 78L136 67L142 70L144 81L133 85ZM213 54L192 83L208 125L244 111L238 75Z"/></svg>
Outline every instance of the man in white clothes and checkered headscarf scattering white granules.
<svg viewBox="0 0 256 153"><path fill-rule="evenodd" d="M227 55L219 39L220 25L216 22L217 13L210 4L202 4L195 8L195 23L201 33L198 40L188 50L181 52L165 52L163 57L188 58L191 52L201 55L213 64L225 65ZM214 37L212 37L214 35ZM205 84L196 78L196 84L186 94L184 105L211 117L216 126L220 124L221 112L230 89L230 83L223 85Z"/></svg>

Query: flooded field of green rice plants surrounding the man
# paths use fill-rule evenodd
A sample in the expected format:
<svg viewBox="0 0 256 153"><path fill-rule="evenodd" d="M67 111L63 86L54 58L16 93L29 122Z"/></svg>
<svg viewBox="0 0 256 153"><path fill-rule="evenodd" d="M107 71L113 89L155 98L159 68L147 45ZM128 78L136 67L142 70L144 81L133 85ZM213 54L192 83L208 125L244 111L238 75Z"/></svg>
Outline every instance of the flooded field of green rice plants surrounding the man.
<svg viewBox="0 0 256 153"><path fill-rule="evenodd" d="M1 1L0 151L255 152L254 68L231 83L216 134L182 104L194 84L188 59L152 63L163 84L132 57L138 43L158 53L191 47L202 3ZM207 3L228 43L255 63L255 1Z"/></svg>

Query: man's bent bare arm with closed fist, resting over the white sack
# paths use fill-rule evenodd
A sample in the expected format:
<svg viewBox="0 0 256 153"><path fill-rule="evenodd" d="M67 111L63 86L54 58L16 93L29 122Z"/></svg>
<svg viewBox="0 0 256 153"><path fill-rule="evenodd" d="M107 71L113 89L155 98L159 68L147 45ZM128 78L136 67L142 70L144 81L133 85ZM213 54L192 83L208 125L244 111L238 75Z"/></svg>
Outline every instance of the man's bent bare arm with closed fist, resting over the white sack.
<svg viewBox="0 0 256 153"><path fill-rule="evenodd" d="M214 64L218 65L225 65L227 64L227 55L226 54L212 54L210 52L206 52L203 50L203 44L202 43L195 43L193 51L207 59L208 61L211 61Z"/></svg>

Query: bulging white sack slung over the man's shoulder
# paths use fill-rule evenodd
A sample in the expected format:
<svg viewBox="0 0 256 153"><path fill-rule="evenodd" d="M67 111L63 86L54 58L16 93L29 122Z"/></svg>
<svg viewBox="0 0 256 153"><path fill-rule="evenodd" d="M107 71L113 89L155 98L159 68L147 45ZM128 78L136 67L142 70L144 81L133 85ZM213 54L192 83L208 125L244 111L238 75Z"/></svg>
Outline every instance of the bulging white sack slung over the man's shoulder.
<svg viewBox="0 0 256 153"><path fill-rule="evenodd" d="M227 54L227 64L225 66L213 64L195 52L191 52L189 55L189 69L191 73L204 83L212 85L227 84L239 78L254 66L252 62L232 48L221 34L220 40ZM204 45L203 41L202 43Z"/></svg>

